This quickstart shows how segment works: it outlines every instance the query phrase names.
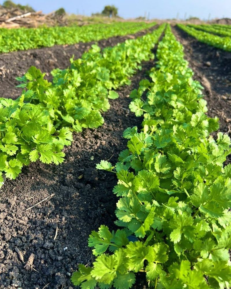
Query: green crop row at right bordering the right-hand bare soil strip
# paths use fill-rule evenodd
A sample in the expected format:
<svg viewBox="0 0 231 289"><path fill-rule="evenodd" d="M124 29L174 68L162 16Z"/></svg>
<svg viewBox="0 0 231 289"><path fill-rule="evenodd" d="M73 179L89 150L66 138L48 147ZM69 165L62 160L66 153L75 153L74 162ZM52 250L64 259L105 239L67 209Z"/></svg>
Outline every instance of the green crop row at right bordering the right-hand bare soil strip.
<svg viewBox="0 0 231 289"><path fill-rule="evenodd" d="M188 27L183 24L177 25L180 29L188 33L189 35L195 37L200 42L206 43L208 45L231 51L231 40L230 37L220 37L214 34L210 34L208 32L199 31L193 27Z"/></svg>

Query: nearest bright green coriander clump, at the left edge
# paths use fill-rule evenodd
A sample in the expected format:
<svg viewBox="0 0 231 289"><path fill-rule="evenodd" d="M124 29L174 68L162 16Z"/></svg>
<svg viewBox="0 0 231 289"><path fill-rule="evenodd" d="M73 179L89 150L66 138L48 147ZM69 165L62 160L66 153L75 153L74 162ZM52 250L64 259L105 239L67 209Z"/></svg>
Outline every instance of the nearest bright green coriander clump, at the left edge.
<svg viewBox="0 0 231 289"><path fill-rule="evenodd" d="M62 149L72 142L67 127L55 129L47 110L24 103L28 90L16 101L0 99L0 183L5 177L15 179L23 165L40 160L55 164L64 161Z"/></svg>

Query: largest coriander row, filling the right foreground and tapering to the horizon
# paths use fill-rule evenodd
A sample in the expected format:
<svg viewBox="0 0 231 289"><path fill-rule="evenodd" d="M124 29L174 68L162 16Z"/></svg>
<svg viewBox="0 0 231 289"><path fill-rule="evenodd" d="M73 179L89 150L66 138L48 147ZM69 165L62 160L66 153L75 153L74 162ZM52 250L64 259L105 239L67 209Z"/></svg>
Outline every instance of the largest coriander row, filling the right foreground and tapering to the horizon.
<svg viewBox="0 0 231 289"><path fill-rule="evenodd" d="M218 119L206 116L202 87L183 56L167 26L153 82L142 81L131 94L130 109L144 116L142 131L124 131L127 149L115 166L97 165L118 177L121 229L92 231L93 267L79 265L71 279L83 289L132 288L137 272L152 288L231 285L231 165L223 167L230 138L209 136Z"/></svg>

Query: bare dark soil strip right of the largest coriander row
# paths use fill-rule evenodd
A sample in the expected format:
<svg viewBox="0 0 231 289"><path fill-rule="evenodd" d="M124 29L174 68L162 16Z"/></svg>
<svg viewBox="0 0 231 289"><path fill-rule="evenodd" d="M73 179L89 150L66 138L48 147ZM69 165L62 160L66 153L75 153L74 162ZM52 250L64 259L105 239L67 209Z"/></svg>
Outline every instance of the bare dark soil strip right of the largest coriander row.
<svg viewBox="0 0 231 289"><path fill-rule="evenodd" d="M184 46L185 59L194 71L194 79L205 88L208 116L217 116L219 131L231 136L231 53L201 43L178 27L172 29ZM227 159L228 163L231 163L231 156Z"/></svg>

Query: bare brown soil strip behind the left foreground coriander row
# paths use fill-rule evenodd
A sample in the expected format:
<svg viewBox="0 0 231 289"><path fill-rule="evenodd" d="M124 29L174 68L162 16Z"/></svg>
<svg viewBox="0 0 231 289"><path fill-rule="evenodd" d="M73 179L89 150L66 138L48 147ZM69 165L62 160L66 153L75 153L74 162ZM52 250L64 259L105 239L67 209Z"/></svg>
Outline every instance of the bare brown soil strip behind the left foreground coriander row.
<svg viewBox="0 0 231 289"><path fill-rule="evenodd" d="M152 31L156 29L156 27L157 25L132 35L102 39L98 41L98 45L102 49L107 46L114 46L124 42L126 39L143 36L147 31ZM94 43L96 42L79 42L75 45L55 45L53 47L0 54L0 97L17 98L21 94L21 90L15 88L15 86L19 84L15 78L23 76L32 65L39 68L42 72L46 72L46 78L51 80L51 70L55 68L67 68L70 64L69 60L73 55L74 59L80 58Z"/></svg>

